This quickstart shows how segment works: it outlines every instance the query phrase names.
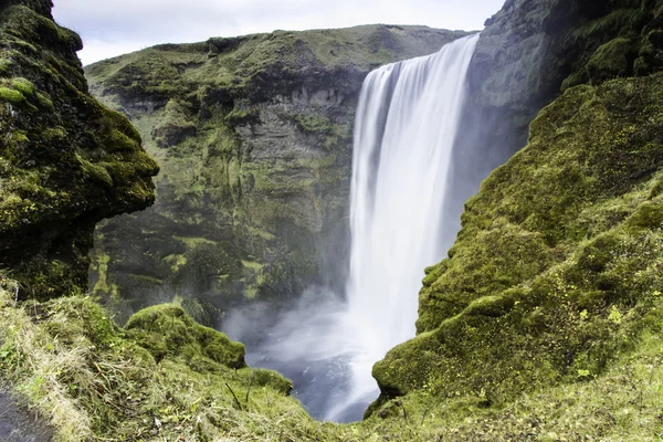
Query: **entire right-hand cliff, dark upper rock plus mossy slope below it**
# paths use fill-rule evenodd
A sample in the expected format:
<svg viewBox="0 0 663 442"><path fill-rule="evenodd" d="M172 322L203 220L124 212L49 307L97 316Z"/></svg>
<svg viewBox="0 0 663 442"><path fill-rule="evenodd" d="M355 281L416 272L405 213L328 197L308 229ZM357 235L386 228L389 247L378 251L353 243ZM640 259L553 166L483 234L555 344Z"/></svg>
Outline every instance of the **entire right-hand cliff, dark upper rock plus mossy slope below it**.
<svg viewBox="0 0 663 442"><path fill-rule="evenodd" d="M373 409L402 394L505 403L601 376L660 333L662 13L508 1L490 21L473 93L484 115L503 112L488 126L516 134L495 148L565 92L465 204L449 259L427 270L418 337L373 368Z"/></svg>

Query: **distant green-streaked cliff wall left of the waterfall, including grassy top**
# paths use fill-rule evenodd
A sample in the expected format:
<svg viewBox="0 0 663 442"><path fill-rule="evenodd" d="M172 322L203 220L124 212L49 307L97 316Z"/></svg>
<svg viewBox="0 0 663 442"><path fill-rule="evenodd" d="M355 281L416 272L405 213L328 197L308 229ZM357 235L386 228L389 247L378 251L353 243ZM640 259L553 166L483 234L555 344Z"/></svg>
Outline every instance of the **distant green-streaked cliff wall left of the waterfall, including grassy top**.
<svg viewBox="0 0 663 442"><path fill-rule="evenodd" d="M364 77L464 35L369 25L161 45L86 69L159 161L157 202L97 230L95 293L198 318L339 284ZM211 313L211 316L210 316Z"/></svg>

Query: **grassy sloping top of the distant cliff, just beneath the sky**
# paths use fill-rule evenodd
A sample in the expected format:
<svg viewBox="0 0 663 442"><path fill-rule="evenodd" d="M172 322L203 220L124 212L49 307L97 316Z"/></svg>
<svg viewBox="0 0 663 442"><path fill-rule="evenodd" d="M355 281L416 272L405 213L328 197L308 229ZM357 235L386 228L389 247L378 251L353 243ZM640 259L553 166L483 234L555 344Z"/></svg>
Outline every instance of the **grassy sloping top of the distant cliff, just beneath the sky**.
<svg viewBox="0 0 663 442"><path fill-rule="evenodd" d="M370 70L439 51L466 35L427 27L364 25L316 31L275 31L212 38L193 44L162 44L86 67L93 87L123 96L172 97L191 83L222 88L225 97L260 98L298 78L345 75L348 86ZM337 83L340 78L336 78ZM292 90L288 87L287 90ZM347 92L347 91L346 91Z"/></svg>

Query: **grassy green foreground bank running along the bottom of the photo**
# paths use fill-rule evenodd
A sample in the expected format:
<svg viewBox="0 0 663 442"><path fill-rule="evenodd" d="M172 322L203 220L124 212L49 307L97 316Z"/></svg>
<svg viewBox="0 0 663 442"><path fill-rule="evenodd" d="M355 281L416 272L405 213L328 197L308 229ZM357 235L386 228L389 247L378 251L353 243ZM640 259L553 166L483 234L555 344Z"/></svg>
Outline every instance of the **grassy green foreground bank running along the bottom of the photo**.
<svg viewBox="0 0 663 442"><path fill-rule="evenodd" d="M4 278L0 290L0 375L51 421L57 441L661 436L660 322L632 341L633 351L612 358L603 372L578 369L568 383L534 389L505 407L485 396L462 393L441 401L432 386L424 386L361 423L335 425L312 420L287 397L292 385L280 375L220 364L214 357L219 349L240 356L242 346L194 324L176 306L139 312L122 329L86 297L15 306L11 284ZM663 307L657 299L657 308ZM201 344L209 348L211 341L219 347L204 354Z"/></svg>

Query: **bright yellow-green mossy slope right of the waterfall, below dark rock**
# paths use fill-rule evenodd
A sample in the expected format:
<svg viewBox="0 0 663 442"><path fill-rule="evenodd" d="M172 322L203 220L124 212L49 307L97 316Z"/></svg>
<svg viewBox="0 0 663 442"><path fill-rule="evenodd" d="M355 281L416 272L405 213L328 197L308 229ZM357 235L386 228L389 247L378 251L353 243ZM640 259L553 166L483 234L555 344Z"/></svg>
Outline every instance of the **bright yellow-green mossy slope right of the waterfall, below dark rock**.
<svg viewBox="0 0 663 442"><path fill-rule="evenodd" d="M663 324L663 75L577 86L466 203L428 269L417 338L373 368L397 396L474 397L599 376Z"/></svg>

